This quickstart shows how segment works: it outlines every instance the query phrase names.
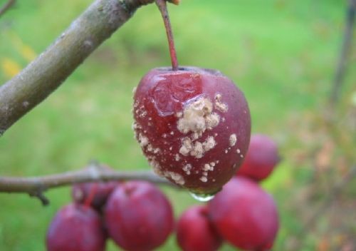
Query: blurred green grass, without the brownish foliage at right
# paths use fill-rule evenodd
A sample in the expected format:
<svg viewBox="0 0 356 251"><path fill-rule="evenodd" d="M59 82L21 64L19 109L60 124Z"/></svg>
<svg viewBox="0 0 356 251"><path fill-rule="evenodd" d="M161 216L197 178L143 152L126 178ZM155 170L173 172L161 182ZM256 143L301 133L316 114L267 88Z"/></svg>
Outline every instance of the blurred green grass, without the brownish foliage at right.
<svg viewBox="0 0 356 251"><path fill-rule="evenodd" d="M0 61L11 58L26 66L11 34L39 54L90 2L18 1L0 19ZM288 160L289 151L300 146L288 122L303 111L317 111L328 95L344 7L332 0L191 0L169 6L179 63L218 68L236 81L248 99L253 132L267 133L281 145L285 160L263 184L281 211L277 250L286 250L288 236L300 229L285 202L310 173L308 168L300 173ZM169 62L161 17L155 5L145 6L1 137L0 175L75 170L92 159L120 170L149 168L131 130L132 88L150 68ZM0 68L0 83L8 79ZM164 191L176 215L197 203L184 191ZM0 250L44 250L48 222L70 201L69 193L69 188L48 191L46 208L28 195L0 194ZM315 249L310 240L303 250ZM160 250L177 250L174 237Z"/></svg>

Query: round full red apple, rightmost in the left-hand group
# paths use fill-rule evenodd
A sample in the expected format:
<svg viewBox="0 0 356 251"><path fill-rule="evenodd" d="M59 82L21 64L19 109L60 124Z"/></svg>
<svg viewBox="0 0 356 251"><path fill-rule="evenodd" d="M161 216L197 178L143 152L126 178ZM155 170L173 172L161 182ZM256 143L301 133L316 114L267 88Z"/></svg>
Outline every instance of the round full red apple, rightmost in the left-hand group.
<svg viewBox="0 0 356 251"><path fill-rule="evenodd" d="M105 225L117 245L128 251L153 250L173 229L172 206L151 183L122 183L105 206Z"/></svg>

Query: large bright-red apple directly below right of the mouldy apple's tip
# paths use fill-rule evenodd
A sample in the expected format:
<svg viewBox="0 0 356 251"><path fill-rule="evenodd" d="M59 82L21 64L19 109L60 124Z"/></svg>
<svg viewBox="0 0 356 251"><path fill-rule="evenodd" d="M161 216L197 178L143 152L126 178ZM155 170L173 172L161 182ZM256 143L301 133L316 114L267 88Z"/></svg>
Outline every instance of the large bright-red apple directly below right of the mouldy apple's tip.
<svg viewBox="0 0 356 251"><path fill-rule="evenodd" d="M219 234L244 250L268 250L278 232L278 210L271 195L252 180L232 178L208 204Z"/></svg>

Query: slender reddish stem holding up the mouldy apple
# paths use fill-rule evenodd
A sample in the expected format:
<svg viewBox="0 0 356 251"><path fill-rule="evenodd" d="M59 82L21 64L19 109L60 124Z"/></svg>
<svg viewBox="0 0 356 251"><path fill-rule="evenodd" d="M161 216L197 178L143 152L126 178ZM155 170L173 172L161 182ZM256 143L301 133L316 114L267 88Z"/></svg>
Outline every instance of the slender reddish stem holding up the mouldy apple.
<svg viewBox="0 0 356 251"><path fill-rule="evenodd" d="M173 71L178 71L177 53L176 53L176 49L174 47L172 26L171 26L171 23L169 21L169 15L168 15L168 10L167 10L166 0L156 0L156 4L158 6L159 11L162 14L164 27L166 28L167 39L168 39L168 44L169 44L169 53L171 54L171 60L172 60L172 70Z"/></svg>

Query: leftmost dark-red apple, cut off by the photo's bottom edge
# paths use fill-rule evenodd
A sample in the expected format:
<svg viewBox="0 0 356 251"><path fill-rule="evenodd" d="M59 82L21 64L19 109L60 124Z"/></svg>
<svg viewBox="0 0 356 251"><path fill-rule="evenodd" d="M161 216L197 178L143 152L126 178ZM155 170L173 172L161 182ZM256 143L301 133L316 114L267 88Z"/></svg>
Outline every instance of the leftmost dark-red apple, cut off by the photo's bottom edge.
<svg viewBox="0 0 356 251"><path fill-rule="evenodd" d="M98 212L79 204L59 210L48 227L48 251L103 251L105 231Z"/></svg>

